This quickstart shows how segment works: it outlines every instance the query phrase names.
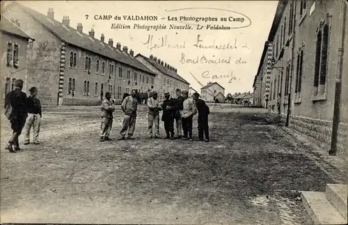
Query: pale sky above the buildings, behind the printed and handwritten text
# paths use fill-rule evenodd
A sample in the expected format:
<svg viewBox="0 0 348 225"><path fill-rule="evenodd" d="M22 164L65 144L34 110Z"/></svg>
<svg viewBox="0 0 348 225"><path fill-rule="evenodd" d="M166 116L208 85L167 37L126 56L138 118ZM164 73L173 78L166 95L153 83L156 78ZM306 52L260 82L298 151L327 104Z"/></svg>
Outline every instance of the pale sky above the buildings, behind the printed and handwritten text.
<svg viewBox="0 0 348 225"><path fill-rule="evenodd" d="M271 23L278 1L19 1L20 3L47 15L48 8L54 8L54 18L61 22L64 15L70 18L70 26L76 29L77 23L84 26L84 33L95 29L95 38L100 39L104 33L106 42L113 38L114 45L120 42L134 50L134 55L141 53L145 56L153 54L164 62L177 68L178 74L186 79L191 86L200 92L201 85L207 82L218 82L226 88L226 93L253 91L253 79L258 70L260 56L267 40ZM191 8L180 10L184 8ZM192 9L194 8L194 9ZM212 9L214 8L214 9ZM233 13L233 12L236 13ZM240 14L237 14L240 13ZM86 20L86 15L88 19ZM122 20L95 20L95 15L120 16ZM127 21L123 15L152 15L157 21ZM191 30L168 29L170 24L184 26L182 22L168 21L169 17L217 17L218 22L187 22L192 24ZM162 20L161 18L165 18ZM220 22L221 17L241 17L244 22ZM249 18L250 20L248 20ZM251 21L251 22L250 22ZM131 29L111 29L112 24L130 25ZM163 24L167 29L147 31L134 29L134 24L157 25ZM197 24L203 26L198 30ZM207 24L223 26L247 26L239 29L212 30L206 29ZM250 26L248 26L250 24ZM161 45L161 38L167 37L169 45L184 45L184 48L173 47L151 48L148 42L152 37L152 47L155 43ZM237 48L232 49L201 49L196 44L200 35L201 45L226 45L230 43ZM183 63L184 59L230 59L230 63L206 64ZM239 59L246 63L237 63ZM205 60L203 60L204 62ZM231 74L235 79L230 83ZM213 76L215 75L214 79ZM216 79L216 77L222 77ZM229 75L230 77L227 77ZM196 82L196 79L201 83Z"/></svg>

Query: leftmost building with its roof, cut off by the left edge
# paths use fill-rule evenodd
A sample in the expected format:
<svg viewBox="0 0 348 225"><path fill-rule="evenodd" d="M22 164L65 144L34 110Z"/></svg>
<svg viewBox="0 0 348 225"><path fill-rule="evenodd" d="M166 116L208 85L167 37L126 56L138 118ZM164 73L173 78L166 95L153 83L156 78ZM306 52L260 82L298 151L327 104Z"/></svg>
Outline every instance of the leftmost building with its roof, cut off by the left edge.
<svg viewBox="0 0 348 225"><path fill-rule="evenodd" d="M27 92L31 86L27 85L26 76L26 47L31 38L22 29L18 20L10 21L7 17L1 17L1 96L4 99L6 93L15 88L15 81L22 79L24 81L23 91Z"/></svg>

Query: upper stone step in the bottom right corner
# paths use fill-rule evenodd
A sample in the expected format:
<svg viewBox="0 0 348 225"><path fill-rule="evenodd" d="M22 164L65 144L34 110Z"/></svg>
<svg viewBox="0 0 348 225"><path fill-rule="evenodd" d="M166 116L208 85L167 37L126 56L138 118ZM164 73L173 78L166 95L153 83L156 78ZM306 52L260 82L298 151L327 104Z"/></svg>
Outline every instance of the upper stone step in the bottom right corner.
<svg viewBox="0 0 348 225"><path fill-rule="evenodd" d="M327 184L325 192L326 198L335 205L345 219L347 219L347 188L348 185Z"/></svg>

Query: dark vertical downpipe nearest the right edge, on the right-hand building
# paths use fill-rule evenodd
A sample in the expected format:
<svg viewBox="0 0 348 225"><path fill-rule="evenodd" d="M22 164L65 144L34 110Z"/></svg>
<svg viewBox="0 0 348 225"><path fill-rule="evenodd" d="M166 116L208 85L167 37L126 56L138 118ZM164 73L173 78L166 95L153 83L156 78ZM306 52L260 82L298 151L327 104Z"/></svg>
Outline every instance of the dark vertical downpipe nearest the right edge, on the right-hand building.
<svg viewBox="0 0 348 225"><path fill-rule="evenodd" d="M345 28L346 28L346 12L347 3L341 0L342 13L341 13L341 29L340 29L340 47L338 47L338 64L337 73L335 79L335 98L333 104L333 121L332 121L332 133L331 133L331 148L329 155L336 155L337 142L338 142L338 126L340 124L340 100L342 95L342 68L343 68L343 54L345 49Z"/></svg>

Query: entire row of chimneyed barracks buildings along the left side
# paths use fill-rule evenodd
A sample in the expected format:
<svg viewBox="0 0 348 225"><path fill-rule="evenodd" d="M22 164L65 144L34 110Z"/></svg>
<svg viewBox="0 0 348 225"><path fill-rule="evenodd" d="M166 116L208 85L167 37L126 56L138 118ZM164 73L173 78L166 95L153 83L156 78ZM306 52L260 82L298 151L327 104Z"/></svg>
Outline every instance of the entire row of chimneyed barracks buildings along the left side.
<svg viewBox="0 0 348 225"><path fill-rule="evenodd" d="M1 16L1 28L6 21L13 27L8 30L17 31L1 29L9 37L1 39L3 97L15 79L24 80L27 93L37 86L44 106L100 104L106 92L120 103L133 88L144 94L156 90L160 98L165 91L174 95L176 88L189 90L189 82L173 66L155 56L135 56L127 46L114 45L113 38L105 40L104 34L99 40L93 29L86 34L81 23L74 29L68 16L58 22L54 8L43 15L13 1Z"/></svg>

